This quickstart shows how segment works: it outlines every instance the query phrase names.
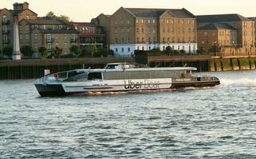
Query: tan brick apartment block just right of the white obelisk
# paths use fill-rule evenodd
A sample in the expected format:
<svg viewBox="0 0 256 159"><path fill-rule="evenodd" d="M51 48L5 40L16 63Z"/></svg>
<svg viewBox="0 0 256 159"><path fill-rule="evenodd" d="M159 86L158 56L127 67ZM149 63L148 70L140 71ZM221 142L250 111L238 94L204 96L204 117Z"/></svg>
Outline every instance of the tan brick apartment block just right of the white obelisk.
<svg viewBox="0 0 256 159"><path fill-rule="evenodd" d="M71 45L77 45L77 30L69 29L64 21L39 17L19 22L20 44L30 45L37 56L38 48L45 46L51 52L56 46L69 52Z"/></svg>

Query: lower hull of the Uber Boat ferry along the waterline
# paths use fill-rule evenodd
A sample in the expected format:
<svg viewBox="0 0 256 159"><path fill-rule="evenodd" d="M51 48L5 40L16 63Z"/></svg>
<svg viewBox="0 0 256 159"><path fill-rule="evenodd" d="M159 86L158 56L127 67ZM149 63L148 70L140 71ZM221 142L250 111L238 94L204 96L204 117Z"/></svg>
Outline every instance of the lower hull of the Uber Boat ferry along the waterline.
<svg viewBox="0 0 256 159"><path fill-rule="evenodd" d="M219 85L219 80L207 80L207 81L190 81L190 82L173 82L173 83L162 83L160 87L151 87L141 89L125 89L125 85L108 85L108 86L93 86L85 87L82 84L78 87L70 87L67 84L58 83L58 84L35 84L38 93L41 96L65 96L65 95L78 95L78 94L89 94L89 93L104 93L104 92L116 92L116 91L156 91L156 90L168 90L168 89L182 89L185 87L215 87ZM127 87L127 86L126 86Z"/></svg>

